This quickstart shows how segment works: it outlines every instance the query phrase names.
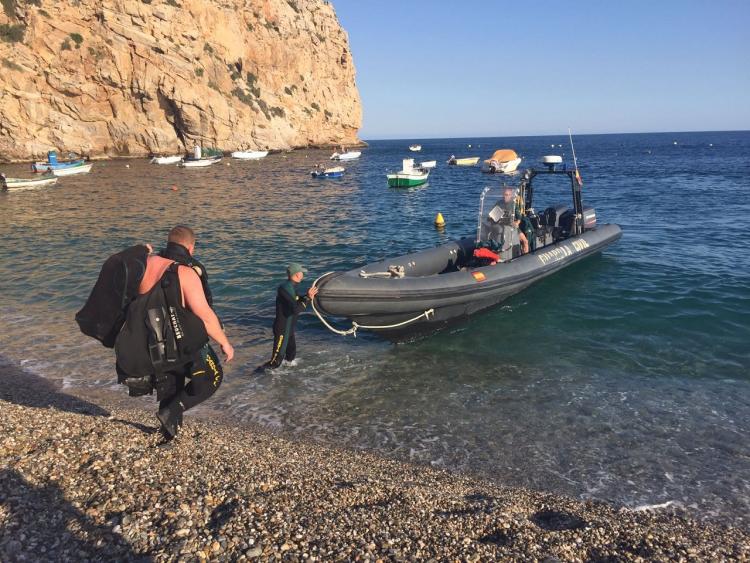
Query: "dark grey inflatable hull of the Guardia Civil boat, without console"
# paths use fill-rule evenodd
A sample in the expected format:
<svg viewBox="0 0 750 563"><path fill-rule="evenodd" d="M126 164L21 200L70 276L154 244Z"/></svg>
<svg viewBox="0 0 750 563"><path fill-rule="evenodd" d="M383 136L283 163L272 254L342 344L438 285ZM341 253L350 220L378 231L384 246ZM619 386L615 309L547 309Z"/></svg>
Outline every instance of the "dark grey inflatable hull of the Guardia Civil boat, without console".
<svg viewBox="0 0 750 563"><path fill-rule="evenodd" d="M474 250L473 239L461 239L361 269L329 274L318 284L316 303L328 315L381 327L432 310L428 319L423 317L401 327L371 329L392 340L408 339L493 307L532 283L600 252L621 235L617 225L600 225L507 263L452 271ZM360 275L386 272L390 266L402 266L405 276Z"/></svg>

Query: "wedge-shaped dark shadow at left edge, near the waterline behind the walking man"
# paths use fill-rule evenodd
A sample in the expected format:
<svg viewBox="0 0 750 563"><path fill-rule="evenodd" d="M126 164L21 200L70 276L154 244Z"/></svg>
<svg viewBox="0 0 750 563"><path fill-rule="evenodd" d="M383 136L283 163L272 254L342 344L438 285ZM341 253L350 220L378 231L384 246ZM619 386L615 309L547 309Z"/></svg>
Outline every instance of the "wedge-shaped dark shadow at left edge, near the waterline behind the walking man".
<svg viewBox="0 0 750 563"><path fill-rule="evenodd" d="M91 416L109 416L99 405L60 391L59 384L0 356L0 400L33 408L56 408Z"/></svg>

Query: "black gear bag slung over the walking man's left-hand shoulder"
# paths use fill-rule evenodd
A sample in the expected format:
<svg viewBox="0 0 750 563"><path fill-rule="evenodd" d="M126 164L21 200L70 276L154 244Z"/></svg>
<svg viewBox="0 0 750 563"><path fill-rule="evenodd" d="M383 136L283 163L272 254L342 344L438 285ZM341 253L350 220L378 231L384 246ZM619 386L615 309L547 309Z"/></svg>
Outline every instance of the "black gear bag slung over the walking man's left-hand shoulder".
<svg viewBox="0 0 750 563"><path fill-rule="evenodd" d="M138 296L138 287L146 272L148 248L132 246L110 256L96 280L83 308L76 313L81 332L113 348L125 322L130 302Z"/></svg>

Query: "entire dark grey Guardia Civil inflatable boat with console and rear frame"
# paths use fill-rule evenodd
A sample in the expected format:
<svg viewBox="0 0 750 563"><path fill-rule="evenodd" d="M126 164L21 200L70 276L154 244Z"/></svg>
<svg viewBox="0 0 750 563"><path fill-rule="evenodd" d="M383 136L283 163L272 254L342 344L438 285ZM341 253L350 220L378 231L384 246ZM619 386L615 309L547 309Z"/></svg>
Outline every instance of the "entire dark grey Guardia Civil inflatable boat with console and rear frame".
<svg viewBox="0 0 750 563"><path fill-rule="evenodd" d="M327 274L317 283L317 309L403 340L496 305L618 240L618 225L597 225L593 208L583 206L577 170L557 170L560 157L544 162L546 170L524 171L517 187L484 190L475 237ZM570 180L572 209L534 211L533 183L541 175ZM525 254L517 224L526 227Z"/></svg>

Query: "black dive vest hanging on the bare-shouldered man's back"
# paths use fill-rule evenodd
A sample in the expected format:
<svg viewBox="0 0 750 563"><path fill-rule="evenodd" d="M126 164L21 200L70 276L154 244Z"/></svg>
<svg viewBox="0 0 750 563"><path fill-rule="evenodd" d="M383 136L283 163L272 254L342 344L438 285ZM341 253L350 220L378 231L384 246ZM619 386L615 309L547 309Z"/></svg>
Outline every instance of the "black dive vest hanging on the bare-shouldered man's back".
<svg viewBox="0 0 750 563"><path fill-rule="evenodd" d="M161 280L128 307L115 341L117 366L127 377L182 367L208 342L203 321L182 305L178 268L172 263Z"/></svg>

